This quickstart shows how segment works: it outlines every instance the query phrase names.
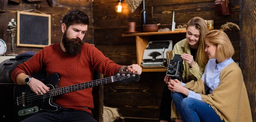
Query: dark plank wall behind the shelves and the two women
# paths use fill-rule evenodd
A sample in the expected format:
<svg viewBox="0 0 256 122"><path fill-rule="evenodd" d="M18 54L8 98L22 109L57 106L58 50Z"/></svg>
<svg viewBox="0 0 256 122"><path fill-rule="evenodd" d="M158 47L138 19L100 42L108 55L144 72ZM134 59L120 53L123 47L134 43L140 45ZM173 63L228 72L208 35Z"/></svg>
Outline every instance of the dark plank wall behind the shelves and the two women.
<svg viewBox="0 0 256 122"><path fill-rule="evenodd" d="M145 0L148 24L160 23L160 28L172 27L172 11L175 11L176 25L186 24L192 17L202 17L215 21L215 29L220 29L226 22L239 25L239 0L230 0L230 15L215 16L215 0ZM136 31L141 31L140 11L142 6L131 13L122 2L123 12L117 14L115 6L118 0L94 0L94 44L107 57L118 64L137 63L135 37L122 37L127 31L128 22L136 22ZM226 32L235 48L233 59L239 62L239 32ZM173 40L177 43L186 38L185 33L151 36L150 40ZM161 95L166 72L143 72L137 83L112 83L104 86L104 104L119 108L125 116L125 122L158 122Z"/></svg>

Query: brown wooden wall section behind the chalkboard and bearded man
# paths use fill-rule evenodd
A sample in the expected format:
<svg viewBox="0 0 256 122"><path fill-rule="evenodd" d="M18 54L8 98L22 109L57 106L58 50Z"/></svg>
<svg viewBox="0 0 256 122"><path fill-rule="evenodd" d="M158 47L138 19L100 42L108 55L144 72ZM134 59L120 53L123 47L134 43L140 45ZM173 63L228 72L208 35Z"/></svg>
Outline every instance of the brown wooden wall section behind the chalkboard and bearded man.
<svg viewBox="0 0 256 122"><path fill-rule="evenodd" d="M19 1L19 0L17 0ZM51 43L58 43L61 41L62 31L61 31L61 24L64 15L67 11L78 8L85 11L90 16L90 26L88 28L88 32L86 37L84 38L84 42L94 43L93 42L93 2L92 0L58 0L58 5L49 7L46 0L38 1L38 2L29 2L27 0L21 0L20 3L14 3L9 1L8 6L6 7L6 13L0 13L0 39L6 42L7 51L5 54L9 54L11 52L11 42L12 38L9 34L8 29L8 22L12 18L17 21L17 11L24 11L35 9L41 11L45 14L51 15ZM32 11L35 12L35 11ZM38 52L42 48L35 48L35 47L16 47L16 37L14 39L15 44L15 53L20 54L26 51L34 51Z"/></svg>

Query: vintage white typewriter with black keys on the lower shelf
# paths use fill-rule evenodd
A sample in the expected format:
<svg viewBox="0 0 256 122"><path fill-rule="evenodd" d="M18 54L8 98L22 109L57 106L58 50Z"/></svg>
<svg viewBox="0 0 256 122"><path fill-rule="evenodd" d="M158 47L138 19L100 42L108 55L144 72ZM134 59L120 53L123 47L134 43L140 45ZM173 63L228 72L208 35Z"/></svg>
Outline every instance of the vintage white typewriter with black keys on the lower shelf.
<svg viewBox="0 0 256 122"><path fill-rule="evenodd" d="M167 67L166 52L169 50L172 50L172 40L149 42L144 50L141 66Z"/></svg>

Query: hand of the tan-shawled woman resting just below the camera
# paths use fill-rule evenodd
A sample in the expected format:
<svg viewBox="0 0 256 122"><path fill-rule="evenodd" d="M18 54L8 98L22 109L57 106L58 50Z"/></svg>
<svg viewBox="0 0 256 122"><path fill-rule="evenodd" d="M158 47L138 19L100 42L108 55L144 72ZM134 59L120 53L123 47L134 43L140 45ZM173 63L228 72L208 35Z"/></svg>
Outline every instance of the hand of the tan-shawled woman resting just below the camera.
<svg viewBox="0 0 256 122"><path fill-rule="evenodd" d="M175 80L171 79L170 82L168 82L168 89L171 90L172 92L182 93L182 94L185 94L186 96L189 95L189 89L186 89L185 87L183 87L180 81L177 79Z"/></svg>

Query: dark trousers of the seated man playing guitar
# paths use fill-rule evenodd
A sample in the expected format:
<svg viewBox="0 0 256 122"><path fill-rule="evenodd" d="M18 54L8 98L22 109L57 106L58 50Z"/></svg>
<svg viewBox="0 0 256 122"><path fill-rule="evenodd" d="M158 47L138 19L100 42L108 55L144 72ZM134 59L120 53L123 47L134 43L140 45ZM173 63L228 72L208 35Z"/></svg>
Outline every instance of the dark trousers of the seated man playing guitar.
<svg viewBox="0 0 256 122"><path fill-rule="evenodd" d="M63 108L58 113L39 112L24 119L22 122L97 122L92 114L86 111L76 111L70 108Z"/></svg>

